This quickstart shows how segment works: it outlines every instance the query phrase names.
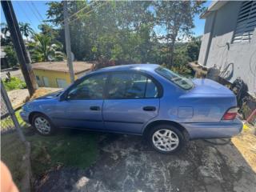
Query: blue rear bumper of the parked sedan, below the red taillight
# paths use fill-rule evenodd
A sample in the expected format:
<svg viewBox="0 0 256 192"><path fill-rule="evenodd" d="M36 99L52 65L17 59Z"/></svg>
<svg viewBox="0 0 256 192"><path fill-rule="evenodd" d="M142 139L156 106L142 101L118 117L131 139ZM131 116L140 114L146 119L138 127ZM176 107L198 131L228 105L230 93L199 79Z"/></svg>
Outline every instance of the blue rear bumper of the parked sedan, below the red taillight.
<svg viewBox="0 0 256 192"><path fill-rule="evenodd" d="M230 122L182 123L190 135L195 138L231 138L242 131L242 122L235 118Z"/></svg>

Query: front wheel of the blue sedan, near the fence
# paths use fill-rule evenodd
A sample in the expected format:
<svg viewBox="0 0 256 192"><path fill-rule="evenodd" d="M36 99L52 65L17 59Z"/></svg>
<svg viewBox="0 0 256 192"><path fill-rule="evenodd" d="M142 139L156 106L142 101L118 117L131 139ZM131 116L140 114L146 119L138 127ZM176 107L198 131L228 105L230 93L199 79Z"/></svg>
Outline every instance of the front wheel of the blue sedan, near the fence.
<svg viewBox="0 0 256 192"><path fill-rule="evenodd" d="M32 126L38 134L48 136L54 134L56 128L45 114L34 114L32 118Z"/></svg>

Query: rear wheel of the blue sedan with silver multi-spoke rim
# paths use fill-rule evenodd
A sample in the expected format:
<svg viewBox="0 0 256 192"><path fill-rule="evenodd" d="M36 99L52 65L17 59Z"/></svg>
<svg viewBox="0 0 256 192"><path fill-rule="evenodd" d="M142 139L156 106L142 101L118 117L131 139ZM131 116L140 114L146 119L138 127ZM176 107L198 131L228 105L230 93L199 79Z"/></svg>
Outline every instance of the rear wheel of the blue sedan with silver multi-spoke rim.
<svg viewBox="0 0 256 192"><path fill-rule="evenodd" d="M154 126L148 134L148 140L154 150L162 154L174 154L186 144L182 131L168 124Z"/></svg>

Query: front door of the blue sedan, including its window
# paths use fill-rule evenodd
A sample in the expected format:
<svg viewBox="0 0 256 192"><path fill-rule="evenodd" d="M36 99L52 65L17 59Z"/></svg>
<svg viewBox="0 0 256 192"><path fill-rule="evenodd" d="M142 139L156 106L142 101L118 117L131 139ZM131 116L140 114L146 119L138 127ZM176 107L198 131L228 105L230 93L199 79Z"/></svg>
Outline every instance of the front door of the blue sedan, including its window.
<svg viewBox="0 0 256 192"><path fill-rule="evenodd" d="M82 79L66 90L66 99L58 103L54 122L63 128L104 130L102 104L106 74Z"/></svg>

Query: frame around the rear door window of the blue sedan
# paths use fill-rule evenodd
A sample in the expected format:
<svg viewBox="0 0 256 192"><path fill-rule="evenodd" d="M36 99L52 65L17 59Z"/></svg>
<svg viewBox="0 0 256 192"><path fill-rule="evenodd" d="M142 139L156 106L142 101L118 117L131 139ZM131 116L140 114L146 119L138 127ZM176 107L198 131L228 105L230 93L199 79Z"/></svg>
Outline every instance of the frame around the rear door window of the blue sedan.
<svg viewBox="0 0 256 192"><path fill-rule="evenodd" d="M109 78L107 78L106 80L106 100L134 100L134 99L152 99L152 98L145 98L145 95L144 95L144 98L110 98L108 93L109 93L109 90L110 90L110 81L111 81L111 78L112 78L112 75L113 74L141 74L143 76L145 76L147 79L150 78L150 80L152 82L154 82L155 86L157 87L158 89L158 97L156 98L162 98L162 95L163 95L163 88L162 88L162 85L160 82L158 82L154 77L152 77L150 74L146 74L142 71L137 71L137 70L130 70L130 71L124 71L124 70L120 70L120 71L110 71L110 72L107 72L109 74ZM147 85L147 81L146 81L146 85ZM145 93L146 94L146 90L145 90Z"/></svg>

